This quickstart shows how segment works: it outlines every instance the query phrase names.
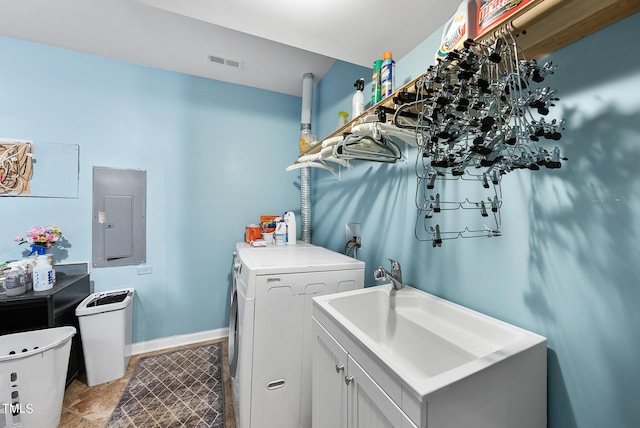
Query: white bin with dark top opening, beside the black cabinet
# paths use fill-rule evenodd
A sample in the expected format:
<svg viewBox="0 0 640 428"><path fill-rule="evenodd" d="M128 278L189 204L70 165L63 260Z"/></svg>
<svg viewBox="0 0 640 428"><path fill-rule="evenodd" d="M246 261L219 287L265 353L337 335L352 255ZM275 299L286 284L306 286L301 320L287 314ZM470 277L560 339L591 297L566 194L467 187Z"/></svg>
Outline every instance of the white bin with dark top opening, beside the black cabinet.
<svg viewBox="0 0 640 428"><path fill-rule="evenodd" d="M133 288L94 293L76 308L89 386L124 376L131 358L133 295Z"/></svg>

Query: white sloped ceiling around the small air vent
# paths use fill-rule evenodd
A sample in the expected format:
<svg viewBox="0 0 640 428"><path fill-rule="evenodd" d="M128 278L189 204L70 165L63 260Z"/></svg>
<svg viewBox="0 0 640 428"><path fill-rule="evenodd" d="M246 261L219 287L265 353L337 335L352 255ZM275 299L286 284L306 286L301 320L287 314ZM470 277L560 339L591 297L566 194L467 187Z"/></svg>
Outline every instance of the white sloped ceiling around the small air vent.
<svg viewBox="0 0 640 428"><path fill-rule="evenodd" d="M0 35L301 96L335 59L401 59L445 23L442 0L0 0ZM242 69L207 55L241 61Z"/></svg>

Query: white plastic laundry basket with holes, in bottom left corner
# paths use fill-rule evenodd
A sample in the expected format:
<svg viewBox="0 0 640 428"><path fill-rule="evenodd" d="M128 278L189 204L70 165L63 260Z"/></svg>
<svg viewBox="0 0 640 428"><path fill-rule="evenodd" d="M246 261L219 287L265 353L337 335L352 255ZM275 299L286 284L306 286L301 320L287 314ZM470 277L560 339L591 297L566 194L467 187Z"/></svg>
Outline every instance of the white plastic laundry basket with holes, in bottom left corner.
<svg viewBox="0 0 640 428"><path fill-rule="evenodd" d="M0 336L0 427L56 428L75 327Z"/></svg>

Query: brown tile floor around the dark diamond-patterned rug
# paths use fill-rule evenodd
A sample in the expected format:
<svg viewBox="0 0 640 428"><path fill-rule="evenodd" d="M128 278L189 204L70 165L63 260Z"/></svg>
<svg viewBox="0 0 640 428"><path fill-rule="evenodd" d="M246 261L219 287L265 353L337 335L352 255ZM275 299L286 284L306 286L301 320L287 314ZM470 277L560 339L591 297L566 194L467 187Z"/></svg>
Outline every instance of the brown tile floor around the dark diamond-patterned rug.
<svg viewBox="0 0 640 428"><path fill-rule="evenodd" d="M64 402L62 404L62 417L60 418L58 428L103 428L109 421L111 412L118 404L120 395L122 395L122 391L127 385L136 363L141 357L216 342L222 342L226 428L235 428L226 338L195 343L178 348L164 349L147 354L133 355L123 378L93 387L88 387L84 379L75 379L65 391Z"/></svg>

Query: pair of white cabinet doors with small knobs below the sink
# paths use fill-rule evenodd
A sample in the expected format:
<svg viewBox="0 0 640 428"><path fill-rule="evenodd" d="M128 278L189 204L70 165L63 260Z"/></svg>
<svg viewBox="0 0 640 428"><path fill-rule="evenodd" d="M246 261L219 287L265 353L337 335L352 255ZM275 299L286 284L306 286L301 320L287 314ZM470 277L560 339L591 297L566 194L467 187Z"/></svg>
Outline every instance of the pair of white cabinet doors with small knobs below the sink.
<svg viewBox="0 0 640 428"><path fill-rule="evenodd" d="M317 320L312 403L313 428L416 428Z"/></svg>

